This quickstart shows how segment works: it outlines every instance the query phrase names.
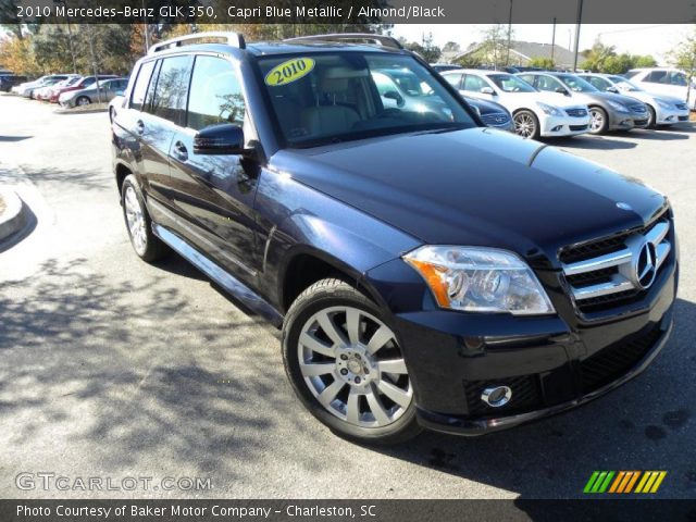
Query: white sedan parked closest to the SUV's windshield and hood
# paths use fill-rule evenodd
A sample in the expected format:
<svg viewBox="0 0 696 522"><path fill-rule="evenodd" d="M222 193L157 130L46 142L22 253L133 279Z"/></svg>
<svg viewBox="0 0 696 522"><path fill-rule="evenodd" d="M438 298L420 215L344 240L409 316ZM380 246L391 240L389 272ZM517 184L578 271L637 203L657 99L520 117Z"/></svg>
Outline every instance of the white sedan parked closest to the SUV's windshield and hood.
<svg viewBox="0 0 696 522"><path fill-rule="evenodd" d="M539 92L511 74L468 69L442 74L460 94L505 107L512 114L514 132L522 137L576 136L589 129L587 105Z"/></svg>

